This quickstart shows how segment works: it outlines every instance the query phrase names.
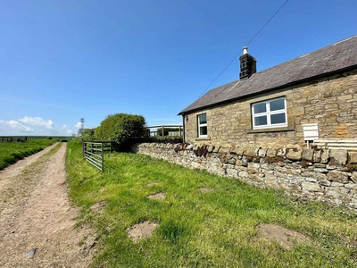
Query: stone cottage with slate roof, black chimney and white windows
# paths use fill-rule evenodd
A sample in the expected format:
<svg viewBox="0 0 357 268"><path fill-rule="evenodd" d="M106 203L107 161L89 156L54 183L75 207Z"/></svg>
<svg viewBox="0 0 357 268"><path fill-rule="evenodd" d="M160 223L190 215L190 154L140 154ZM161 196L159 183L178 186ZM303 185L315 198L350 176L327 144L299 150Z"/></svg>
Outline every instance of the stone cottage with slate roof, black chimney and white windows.
<svg viewBox="0 0 357 268"><path fill-rule="evenodd" d="M246 47L239 60L239 80L179 113L185 142L303 148L311 126L311 140L357 138L357 36L265 71Z"/></svg>

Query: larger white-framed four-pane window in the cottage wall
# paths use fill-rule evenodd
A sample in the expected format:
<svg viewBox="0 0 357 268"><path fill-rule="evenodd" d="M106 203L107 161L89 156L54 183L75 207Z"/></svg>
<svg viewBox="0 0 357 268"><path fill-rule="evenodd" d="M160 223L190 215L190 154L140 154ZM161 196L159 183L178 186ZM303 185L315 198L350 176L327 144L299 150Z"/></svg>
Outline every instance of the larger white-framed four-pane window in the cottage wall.
<svg viewBox="0 0 357 268"><path fill-rule="evenodd" d="M285 96L253 104L252 121L254 130L287 127Z"/></svg>

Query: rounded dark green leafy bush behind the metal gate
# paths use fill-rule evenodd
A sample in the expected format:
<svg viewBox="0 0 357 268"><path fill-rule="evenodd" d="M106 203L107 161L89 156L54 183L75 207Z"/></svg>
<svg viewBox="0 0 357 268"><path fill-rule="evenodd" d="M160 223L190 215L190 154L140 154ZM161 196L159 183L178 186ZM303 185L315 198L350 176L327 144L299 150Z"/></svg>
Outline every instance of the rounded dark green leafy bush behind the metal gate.
<svg viewBox="0 0 357 268"><path fill-rule="evenodd" d="M108 115L95 129L95 139L110 140L119 144L145 136L145 118L141 115L116 113Z"/></svg>

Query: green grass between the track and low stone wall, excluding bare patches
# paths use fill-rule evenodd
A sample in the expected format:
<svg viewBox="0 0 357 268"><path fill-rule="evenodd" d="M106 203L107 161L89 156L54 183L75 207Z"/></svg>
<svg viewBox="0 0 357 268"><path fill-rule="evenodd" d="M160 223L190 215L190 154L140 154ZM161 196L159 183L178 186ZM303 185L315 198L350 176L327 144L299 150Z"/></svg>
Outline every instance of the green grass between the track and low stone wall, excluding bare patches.
<svg viewBox="0 0 357 268"><path fill-rule="evenodd" d="M357 219L320 203L301 203L281 192L209 174L145 155L112 154L101 173L81 159L80 145L67 154L71 199L79 222L97 230L94 267L355 267ZM151 186L148 186L150 183ZM212 191L201 192L200 188ZM164 200L149 199L165 193ZM91 205L105 202L104 211ZM127 236L138 222L157 222L150 239ZM310 237L286 248L258 235L274 223Z"/></svg>

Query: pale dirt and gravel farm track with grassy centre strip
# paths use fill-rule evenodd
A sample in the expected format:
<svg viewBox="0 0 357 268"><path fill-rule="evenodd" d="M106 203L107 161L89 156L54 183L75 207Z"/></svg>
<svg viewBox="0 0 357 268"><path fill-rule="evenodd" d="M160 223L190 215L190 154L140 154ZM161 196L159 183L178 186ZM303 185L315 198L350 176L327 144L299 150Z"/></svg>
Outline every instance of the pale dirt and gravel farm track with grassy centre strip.
<svg viewBox="0 0 357 268"><path fill-rule="evenodd" d="M65 172L66 143L0 171L0 267L87 267L95 235L75 228Z"/></svg>

